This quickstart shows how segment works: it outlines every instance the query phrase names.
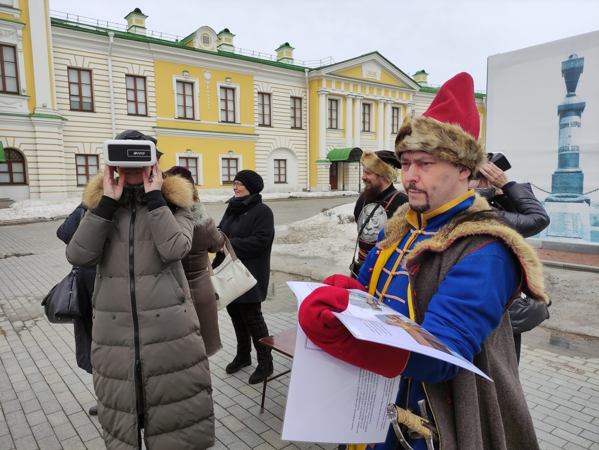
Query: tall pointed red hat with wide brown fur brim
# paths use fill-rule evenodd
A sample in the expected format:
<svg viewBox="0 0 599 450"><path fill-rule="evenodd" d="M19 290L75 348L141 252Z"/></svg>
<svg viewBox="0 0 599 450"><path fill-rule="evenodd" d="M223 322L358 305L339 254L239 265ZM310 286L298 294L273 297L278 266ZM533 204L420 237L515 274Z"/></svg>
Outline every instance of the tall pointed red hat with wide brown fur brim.
<svg viewBox="0 0 599 450"><path fill-rule="evenodd" d="M459 73L447 81L422 116L406 116L395 138L395 155L426 152L435 158L462 164L474 179L486 155L479 143L479 111L474 100L474 81Z"/></svg>

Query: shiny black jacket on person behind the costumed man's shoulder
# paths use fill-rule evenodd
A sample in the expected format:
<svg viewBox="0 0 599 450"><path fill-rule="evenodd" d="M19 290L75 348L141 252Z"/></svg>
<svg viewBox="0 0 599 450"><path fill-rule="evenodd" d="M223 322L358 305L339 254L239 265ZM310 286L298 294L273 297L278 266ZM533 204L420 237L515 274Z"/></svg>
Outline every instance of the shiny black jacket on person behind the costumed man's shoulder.
<svg viewBox="0 0 599 450"><path fill-rule="evenodd" d="M491 206L499 215L524 237L531 237L543 231L549 225L549 216L543 205L533 194L528 183L512 183L501 188L503 195L495 195ZM509 308L510 321L514 334L530 331L549 318L549 310L544 304L520 295Z"/></svg>

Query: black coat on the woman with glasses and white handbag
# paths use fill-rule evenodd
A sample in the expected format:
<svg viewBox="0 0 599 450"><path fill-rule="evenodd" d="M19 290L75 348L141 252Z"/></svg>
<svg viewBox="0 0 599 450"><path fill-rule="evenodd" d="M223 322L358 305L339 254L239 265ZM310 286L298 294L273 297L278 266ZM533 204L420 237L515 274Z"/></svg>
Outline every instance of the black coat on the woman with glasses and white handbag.
<svg viewBox="0 0 599 450"><path fill-rule="evenodd" d="M270 252L274 241L274 216L271 209L262 203L260 194L248 195L244 204L258 203L249 210L235 215L228 207L218 228L231 241L237 257L256 279L256 285L233 301L233 303L255 303L266 300L270 279ZM232 201L229 200L229 203ZM212 267L216 268L225 259L216 253Z"/></svg>

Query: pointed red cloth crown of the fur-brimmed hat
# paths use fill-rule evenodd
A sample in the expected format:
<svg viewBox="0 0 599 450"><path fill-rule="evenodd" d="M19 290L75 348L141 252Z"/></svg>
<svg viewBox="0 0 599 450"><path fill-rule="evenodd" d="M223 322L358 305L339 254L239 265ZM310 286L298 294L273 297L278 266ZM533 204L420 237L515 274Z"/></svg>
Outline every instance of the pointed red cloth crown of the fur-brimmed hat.
<svg viewBox="0 0 599 450"><path fill-rule="evenodd" d="M441 86L431 105L422 114L439 122L453 123L479 138L479 110L474 101L474 80L465 72L455 75Z"/></svg>

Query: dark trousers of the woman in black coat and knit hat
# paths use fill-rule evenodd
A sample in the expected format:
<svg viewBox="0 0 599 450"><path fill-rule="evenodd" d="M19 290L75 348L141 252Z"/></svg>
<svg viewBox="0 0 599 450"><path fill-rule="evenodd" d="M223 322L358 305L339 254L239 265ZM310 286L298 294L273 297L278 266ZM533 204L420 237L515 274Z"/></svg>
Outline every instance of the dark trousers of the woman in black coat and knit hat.
<svg viewBox="0 0 599 450"><path fill-rule="evenodd" d="M252 352L252 341L256 349L258 367L266 367L268 347L258 341L268 336L268 328L262 316L262 303L231 303L226 307L226 312L231 316L235 336L237 337L237 354L246 357ZM272 361L272 357L271 357ZM269 361L270 362L270 361Z"/></svg>

